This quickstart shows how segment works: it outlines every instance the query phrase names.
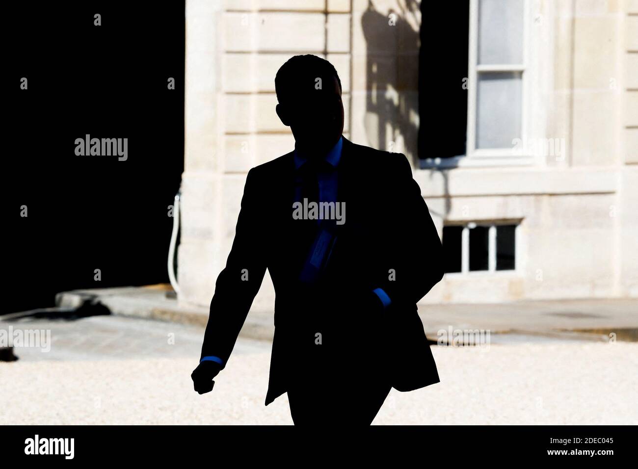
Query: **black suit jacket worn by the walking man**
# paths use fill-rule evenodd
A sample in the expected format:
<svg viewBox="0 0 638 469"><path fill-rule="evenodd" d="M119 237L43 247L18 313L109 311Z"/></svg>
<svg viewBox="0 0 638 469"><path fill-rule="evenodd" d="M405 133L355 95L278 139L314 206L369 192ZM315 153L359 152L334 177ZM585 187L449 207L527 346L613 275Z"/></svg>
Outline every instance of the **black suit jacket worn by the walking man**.
<svg viewBox="0 0 638 469"><path fill-rule="evenodd" d="M336 227L322 281L311 287L299 281L308 245L292 217L293 153L246 178L202 357L216 355L226 365L269 269L276 299L266 405L304 377L334 376L338 386L339 376L367 370L398 391L439 382L416 303L443 276L441 242L410 164L401 153L344 138L337 170L345 223ZM374 288L392 301L382 316L361 310L360 299ZM323 372L330 376L318 376Z"/></svg>

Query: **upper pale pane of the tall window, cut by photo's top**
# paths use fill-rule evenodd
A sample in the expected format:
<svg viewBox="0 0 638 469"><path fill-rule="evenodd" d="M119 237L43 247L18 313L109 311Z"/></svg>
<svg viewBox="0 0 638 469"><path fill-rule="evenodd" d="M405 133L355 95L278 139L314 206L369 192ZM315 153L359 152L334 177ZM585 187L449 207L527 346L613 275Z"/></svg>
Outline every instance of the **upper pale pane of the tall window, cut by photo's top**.
<svg viewBox="0 0 638 469"><path fill-rule="evenodd" d="M479 64L523 63L523 0L480 0Z"/></svg>

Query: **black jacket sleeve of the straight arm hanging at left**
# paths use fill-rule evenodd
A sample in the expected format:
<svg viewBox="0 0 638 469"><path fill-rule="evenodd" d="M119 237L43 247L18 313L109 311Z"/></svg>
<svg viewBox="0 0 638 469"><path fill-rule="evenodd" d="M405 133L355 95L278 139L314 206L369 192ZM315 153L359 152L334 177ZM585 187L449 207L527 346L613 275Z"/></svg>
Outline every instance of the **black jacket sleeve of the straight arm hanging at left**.
<svg viewBox="0 0 638 469"><path fill-rule="evenodd" d="M207 356L219 357L222 369L228 362L265 274L263 210L259 197L255 170L251 169L246 177L235 239L226 267L219 273L215 285L200 356L200 360Z"/></svg>

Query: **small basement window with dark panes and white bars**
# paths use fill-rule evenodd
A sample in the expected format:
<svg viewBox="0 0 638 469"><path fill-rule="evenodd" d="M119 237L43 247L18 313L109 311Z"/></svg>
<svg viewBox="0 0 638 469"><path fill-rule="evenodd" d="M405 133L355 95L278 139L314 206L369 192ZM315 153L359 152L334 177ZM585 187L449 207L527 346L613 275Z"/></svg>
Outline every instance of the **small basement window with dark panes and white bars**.
<svg viewBox="0 0 638 469"><path fill-rule="evenodd" d="M443 227L445 272L496 272L516 269L519 225L470 222Z"/></svg>

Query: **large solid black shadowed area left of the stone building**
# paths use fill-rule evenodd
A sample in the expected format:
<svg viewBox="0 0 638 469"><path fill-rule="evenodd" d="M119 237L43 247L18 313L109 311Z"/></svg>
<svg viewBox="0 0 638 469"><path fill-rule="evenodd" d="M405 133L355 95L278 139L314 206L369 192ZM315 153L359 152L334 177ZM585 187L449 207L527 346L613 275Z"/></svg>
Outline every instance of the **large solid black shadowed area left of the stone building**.
<svg viewBox="0 0 638 469"><path fill-rule="evenodd" d="M3 10L0 313L51 306L73 288L168 281L168 205L184 166L184 2ZM76 156L85 134L128 138L128 160Z"/></svg>

